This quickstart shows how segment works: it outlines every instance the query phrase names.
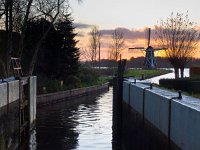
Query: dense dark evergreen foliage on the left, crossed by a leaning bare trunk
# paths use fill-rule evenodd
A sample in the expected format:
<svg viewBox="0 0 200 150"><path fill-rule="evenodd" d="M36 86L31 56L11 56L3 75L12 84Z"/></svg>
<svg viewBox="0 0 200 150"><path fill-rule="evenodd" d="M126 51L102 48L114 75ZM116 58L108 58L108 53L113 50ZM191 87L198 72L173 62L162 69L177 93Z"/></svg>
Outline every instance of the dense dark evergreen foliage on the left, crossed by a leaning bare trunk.
<svg viewBox="0 0 200 150"><path fill-rule="evenodd" d="M43 74L51 79L66 79L69 75L76 75L79 67L79 49L76 47L77 35L70 14L59 20L51 28L40 48L34 68L35 74ZM24 64L29 64L34 46L42 33L48 29L50 23L40 19L28 23L26 31L26 47L23 53ZM28 66L24 66L28 68Z"/></svg>

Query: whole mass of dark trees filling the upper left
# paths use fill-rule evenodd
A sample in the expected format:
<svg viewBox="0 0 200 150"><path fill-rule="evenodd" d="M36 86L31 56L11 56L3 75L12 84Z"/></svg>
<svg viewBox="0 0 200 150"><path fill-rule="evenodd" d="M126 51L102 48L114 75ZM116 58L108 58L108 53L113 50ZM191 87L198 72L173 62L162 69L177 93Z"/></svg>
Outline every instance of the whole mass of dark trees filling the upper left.
<svg viewBox="0 0 200 150"><path fill-rule="evenodd" d="M26 75L77 72L79 49L68 8L68 0L0 0L1 76L11 75L11 57L21 59Z"/></svg>

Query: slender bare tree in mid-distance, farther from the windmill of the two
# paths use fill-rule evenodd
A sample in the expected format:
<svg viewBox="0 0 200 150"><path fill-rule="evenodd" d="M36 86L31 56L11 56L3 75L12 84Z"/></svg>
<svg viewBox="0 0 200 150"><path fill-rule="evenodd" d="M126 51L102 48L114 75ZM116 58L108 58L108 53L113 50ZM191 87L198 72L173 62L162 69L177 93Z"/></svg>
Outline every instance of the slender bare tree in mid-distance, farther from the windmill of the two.
<svg viewBox="0 0 200 150"><path fill-rule="evenodd" d="M97 55L99 54L98 48L100 46L101 32L99 31L97 26L94 26L89 34L90 34L90 41L89 41L90 51L88 52L88 54L91 57L92 64L94 64L97 61Z"/></svg>

